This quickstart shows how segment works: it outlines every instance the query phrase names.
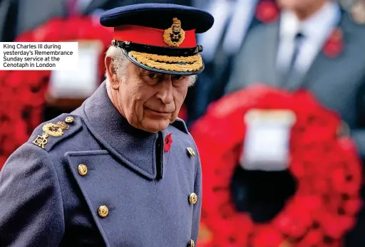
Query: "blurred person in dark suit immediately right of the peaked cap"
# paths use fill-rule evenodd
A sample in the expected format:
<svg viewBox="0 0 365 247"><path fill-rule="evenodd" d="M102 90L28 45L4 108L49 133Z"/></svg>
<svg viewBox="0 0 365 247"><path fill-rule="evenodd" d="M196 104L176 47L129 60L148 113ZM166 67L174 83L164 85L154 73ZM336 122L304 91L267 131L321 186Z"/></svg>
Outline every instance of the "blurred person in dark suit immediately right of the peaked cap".
<svg viewBox="0 0 365 247"><path fill-rule="evenodd" d="M247 33L262 23L275 21L279 13L274 0L195 0L192 4L210 11L215 25L198 36L205 48L205 71L187 94L188 124L203 115L212 101L222 97L232 61Z"/></svg>

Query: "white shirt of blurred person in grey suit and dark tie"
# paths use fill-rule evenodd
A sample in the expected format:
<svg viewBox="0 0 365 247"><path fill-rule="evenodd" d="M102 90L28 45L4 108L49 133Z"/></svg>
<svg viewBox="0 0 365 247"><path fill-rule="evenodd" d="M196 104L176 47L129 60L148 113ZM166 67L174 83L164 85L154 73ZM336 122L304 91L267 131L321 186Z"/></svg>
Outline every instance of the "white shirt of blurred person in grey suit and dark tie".
<svg viewBox="0 0 365 247"><path fill-rule="evenodd" d="M340 19L341 10L334 1L329 1L316 14L304 21L299 21L291 11L282 11L279 23L277 69L285 72L289 68L294 52L294 37L300 31L304 39L294 69L299 73L307 73Z"/></svg>

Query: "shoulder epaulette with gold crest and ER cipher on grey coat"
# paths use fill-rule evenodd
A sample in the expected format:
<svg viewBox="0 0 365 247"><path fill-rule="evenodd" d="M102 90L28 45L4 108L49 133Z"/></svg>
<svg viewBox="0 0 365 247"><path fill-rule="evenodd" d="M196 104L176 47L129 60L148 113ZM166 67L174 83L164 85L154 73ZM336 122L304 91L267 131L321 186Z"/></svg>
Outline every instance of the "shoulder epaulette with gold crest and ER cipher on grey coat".
<svg viewBox="0 0 365 247"><path fill-rule="evenodd" d="M36 127L28 142L48 152L56 143L67 139L81 130L81 127L82 121L80 116L62 114Z"/></svg>

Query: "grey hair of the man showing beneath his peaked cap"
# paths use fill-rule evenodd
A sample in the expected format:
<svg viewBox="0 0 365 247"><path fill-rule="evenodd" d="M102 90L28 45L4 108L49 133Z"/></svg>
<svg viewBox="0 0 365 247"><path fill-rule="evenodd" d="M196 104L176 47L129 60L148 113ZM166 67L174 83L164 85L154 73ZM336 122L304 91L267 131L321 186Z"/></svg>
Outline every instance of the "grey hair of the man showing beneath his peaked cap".
<svg viewBox="0 0 365 247"><path fill-rule="evenodd" d="M109 46L108 51L106 51L106 56L112 58L113 70L117 74L118 78L122 78L128 73L128 63L129 60L123 53L123 51L115 46ZM106 79L109 81L108 73L106 72ZM197 75L189 76L189 87L195 84L197 80Z"/></svg>

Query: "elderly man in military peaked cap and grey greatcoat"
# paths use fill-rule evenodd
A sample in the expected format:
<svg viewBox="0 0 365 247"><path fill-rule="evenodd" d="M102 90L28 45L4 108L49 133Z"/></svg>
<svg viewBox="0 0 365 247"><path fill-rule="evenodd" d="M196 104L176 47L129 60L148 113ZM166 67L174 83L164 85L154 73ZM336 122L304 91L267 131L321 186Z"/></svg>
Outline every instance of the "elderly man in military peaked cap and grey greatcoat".
<svg viewBox="0 0 365 247"><path fill-rule="evenodd" d="M178 119L204 69L210 14L140 4L106 11L107 80L43 123L0 174L1 246L195 246L200 159Z"/></svg>

